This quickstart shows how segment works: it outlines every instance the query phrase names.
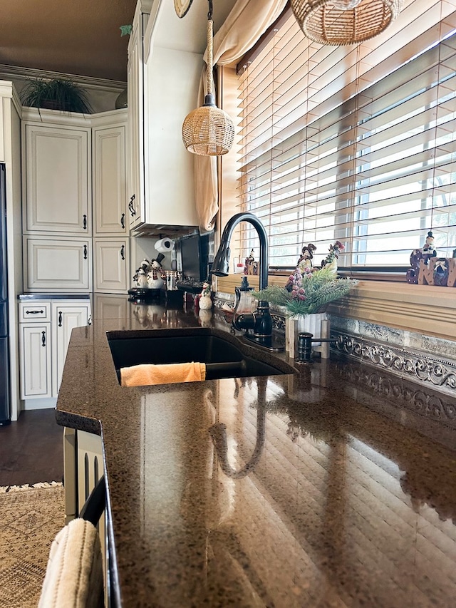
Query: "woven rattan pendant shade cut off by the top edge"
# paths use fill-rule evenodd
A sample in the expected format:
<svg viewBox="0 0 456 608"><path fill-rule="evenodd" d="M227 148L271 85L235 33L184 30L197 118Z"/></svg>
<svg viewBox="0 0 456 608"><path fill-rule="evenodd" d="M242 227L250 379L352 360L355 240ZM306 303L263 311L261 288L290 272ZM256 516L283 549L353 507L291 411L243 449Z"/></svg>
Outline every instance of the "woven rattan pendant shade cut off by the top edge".
<svg viewBox="0 0 456 608"><path fill-rule="evenodd" d="M291 0L304 34L320 44L355 44L381 34L403 0Z"/></svg>

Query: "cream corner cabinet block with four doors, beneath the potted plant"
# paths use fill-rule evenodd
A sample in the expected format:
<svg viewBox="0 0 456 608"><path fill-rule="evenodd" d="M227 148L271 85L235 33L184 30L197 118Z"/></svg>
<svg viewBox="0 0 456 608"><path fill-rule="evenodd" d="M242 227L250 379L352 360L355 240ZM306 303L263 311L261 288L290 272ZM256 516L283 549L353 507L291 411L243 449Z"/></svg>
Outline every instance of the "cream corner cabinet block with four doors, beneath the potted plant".
<svg viewBox="0 0 456 608"><path fill-rule="evenodd" d="M90 292L95 274L98 283L103 277L103 289L126 292L127 111L86 116L41 110L40 121L35 108L23 110L24 288ZM93 239L100 237L115 244L105 244L104 256L93 258ZM108 280L113 247L116 281ZM99 260L103 266L96 267Z"/></svg>

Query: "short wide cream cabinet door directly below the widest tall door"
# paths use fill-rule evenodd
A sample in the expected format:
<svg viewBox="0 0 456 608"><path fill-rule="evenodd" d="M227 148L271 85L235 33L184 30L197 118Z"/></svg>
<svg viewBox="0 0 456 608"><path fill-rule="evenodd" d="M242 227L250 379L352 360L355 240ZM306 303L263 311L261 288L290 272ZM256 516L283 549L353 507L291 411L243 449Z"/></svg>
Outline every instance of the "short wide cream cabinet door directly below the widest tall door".
<svg viewBox="0 0 456 608"><path fill-rule="evenodd" d="M87 292L91 285L89 239L24 237L24 275L30 292Z"/></svg>

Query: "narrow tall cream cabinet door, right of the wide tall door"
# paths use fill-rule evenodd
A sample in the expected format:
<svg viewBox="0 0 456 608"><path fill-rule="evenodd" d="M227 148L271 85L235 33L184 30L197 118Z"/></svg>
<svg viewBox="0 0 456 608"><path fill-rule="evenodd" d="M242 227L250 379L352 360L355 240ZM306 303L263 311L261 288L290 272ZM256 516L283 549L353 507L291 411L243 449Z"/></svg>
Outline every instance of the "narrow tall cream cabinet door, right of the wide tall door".
<svg viewBox="0 0 456 608"><path fill-rule="evenodd" d="M93 205L95 234L125 235L125 127L93 131Z"/></svg>

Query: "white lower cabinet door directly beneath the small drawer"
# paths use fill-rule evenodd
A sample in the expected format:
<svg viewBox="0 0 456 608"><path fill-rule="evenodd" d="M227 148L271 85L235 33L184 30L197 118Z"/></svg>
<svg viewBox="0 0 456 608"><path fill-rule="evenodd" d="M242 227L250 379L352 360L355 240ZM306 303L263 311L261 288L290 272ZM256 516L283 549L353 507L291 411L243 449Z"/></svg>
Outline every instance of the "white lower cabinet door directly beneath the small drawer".
<svg viewBox="0 0 456 608"><path fill-rule="evenodd" d="M51 324L21 323L21 399L52 396Z"/></svg>

